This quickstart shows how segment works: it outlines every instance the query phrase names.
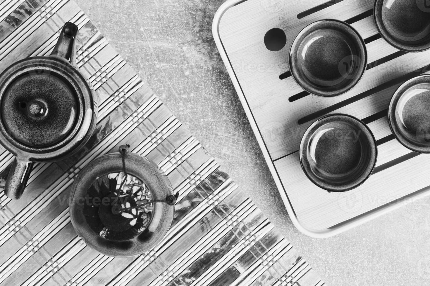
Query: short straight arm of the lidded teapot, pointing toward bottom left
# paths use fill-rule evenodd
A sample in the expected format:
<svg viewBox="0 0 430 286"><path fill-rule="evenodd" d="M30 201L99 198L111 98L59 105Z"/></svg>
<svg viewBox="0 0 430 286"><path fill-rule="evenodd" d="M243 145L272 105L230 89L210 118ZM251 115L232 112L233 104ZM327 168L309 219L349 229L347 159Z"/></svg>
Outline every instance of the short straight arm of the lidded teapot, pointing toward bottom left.
<svg viewBox="0 0 430 286"><path fill-rule="evenodd" d="M4 193L11 199L19 199L24 193L28 178L30 177L33 162L15 158L6 179Z"/></svg>

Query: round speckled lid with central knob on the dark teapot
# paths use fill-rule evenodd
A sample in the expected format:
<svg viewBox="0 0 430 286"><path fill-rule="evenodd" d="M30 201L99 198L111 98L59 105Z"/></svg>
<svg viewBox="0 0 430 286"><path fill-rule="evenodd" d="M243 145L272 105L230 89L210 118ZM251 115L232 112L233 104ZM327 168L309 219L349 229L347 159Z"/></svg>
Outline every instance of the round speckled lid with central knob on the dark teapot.
<svg viewBox="0 0 430 286"><path fill-rule="evenodd" d="M76 126L80 112L72 84L40 66L14 78L0 105L9 135L32 148L46 148L64 140Z"/></svg>

